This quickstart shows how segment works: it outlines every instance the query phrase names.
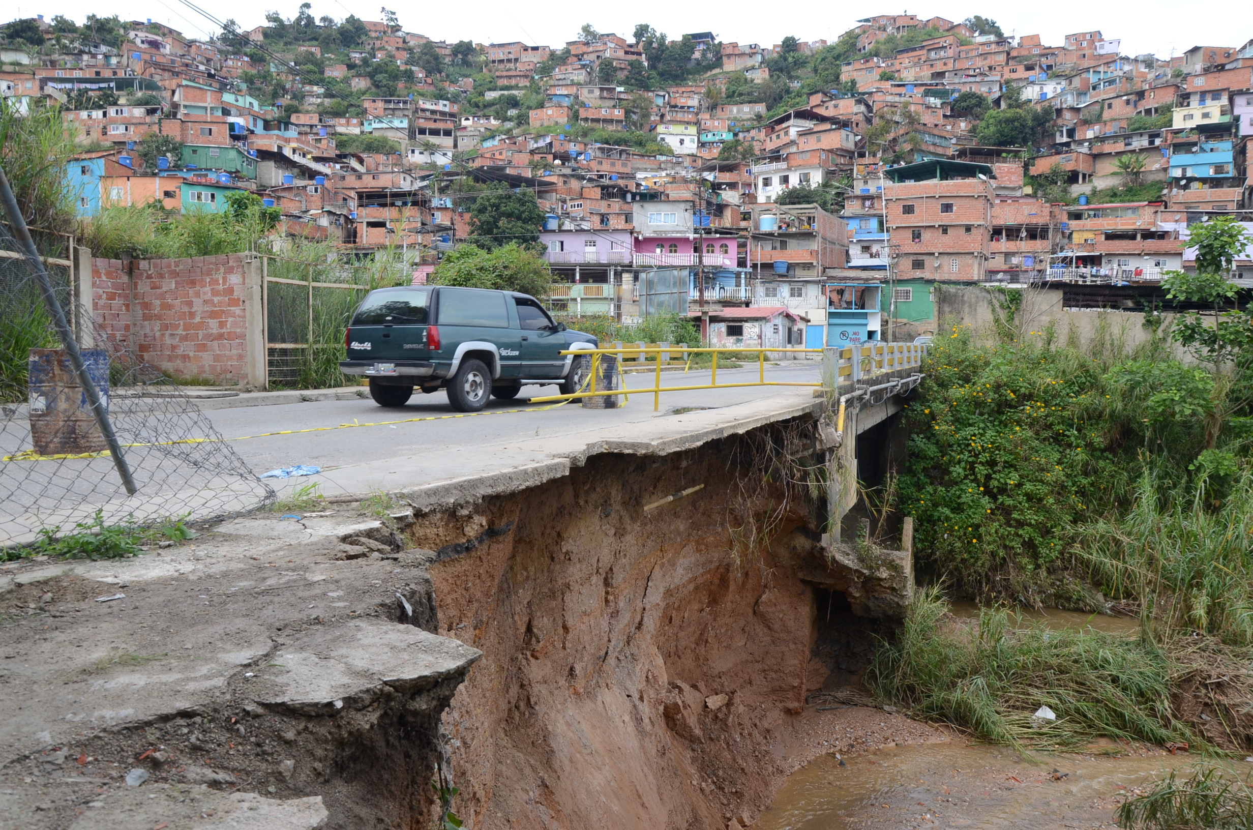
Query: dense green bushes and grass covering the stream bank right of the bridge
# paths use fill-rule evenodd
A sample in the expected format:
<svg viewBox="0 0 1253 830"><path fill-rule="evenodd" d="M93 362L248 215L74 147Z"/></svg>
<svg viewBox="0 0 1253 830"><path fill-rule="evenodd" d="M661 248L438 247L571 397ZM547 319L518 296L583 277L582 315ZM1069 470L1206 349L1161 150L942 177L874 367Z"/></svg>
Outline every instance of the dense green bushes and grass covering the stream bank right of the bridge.
<svg viewBox="0 0 1253 830"><path fill-rule="evenodd" d="M1034 607L1114 603L1139 613L1141 636L1046 633L997 611L967 628L925 593L881 651L880 695L1000 742L1253 747L1253 678L1232 668L1253 653L1253 315L1225 278L1248 239L1214 218L1189 242L1197 271L1170 275L1168 298L1217 313L1182 313L1135 349L1101 331L1059 344L1030 330L1021 293L995 292L994 342L955 326L928 354L900 480L937 584ZM1039 705L1059 720L1024 731Z"/></svg>

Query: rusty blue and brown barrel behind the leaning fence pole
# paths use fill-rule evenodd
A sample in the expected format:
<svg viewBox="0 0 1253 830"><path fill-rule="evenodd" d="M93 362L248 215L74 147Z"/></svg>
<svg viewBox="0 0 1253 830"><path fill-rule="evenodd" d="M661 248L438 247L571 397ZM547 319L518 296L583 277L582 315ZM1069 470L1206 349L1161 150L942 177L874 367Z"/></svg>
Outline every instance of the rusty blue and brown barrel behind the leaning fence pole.
<svg viewBox="0 0 1253 830"><path fill-rule="evenodd" d="M76 455L105 449L104 436L64 349L31 349L28 356L30 439L38 455ZM83 362L109 406L109 352L84 349Z"/></svg>

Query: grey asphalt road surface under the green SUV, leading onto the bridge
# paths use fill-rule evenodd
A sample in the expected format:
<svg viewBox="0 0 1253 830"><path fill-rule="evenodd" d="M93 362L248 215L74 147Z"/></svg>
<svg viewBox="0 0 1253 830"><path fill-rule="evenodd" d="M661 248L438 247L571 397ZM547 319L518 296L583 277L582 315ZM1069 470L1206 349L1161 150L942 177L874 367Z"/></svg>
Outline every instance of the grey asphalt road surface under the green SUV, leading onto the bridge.
<svg viewBox="0 0 1253 830"><path fill-rule="evenodd" d="M817 382L819 367L818 361L787 361L774 366L768 365L766 379L768 381ZM708 370L693 370L687 374L663 372L662 385L707 384L709 376ZM757 377L756 365L718 371L719 382L753 382ZM652 386L653 379L654 376L650 374L626 375L626 387ZM385 461L424 453L444 455L449 451L459 451L466 456L500 453L525 439L570 436L593 433L605 425L647 423L658 416L670 416L674 410L682 407L717 409L777 396L794 397L798 391L807 390L747 386L663 392L659 412L653 411L653 395L642 394L632 396L625 406L616 410L584 409L578 401L554 407L551 404L529 404L524 397L511 401L494 399L484 414L455 418L456 412L449 406L447 395L440 391L431 395L416 392L408 404L400 409L385 409L366 397L348 401L308 401L219 409L207 411L205 415L227 439L279 430L308 430L337 428L352 423L392 421L377 426L268 435L231 441L234 450L257 474L297 464L312 464L332 473L336 468L345 465ZM526 386L523 390L523 395L533 396L556 394L559 394L556 386ZM475 466L475 464L469 466Z"/></svg>

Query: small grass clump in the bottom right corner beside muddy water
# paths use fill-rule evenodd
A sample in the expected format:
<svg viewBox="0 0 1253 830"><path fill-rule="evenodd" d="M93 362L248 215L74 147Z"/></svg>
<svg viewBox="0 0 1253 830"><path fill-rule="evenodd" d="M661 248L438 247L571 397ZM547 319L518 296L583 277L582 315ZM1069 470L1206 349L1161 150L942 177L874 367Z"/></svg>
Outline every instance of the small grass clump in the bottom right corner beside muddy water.
<svg viewBox="0 0 1253 830"><path fill-rule="evenodd" d="M1253 827L1253 787L1232 770L1198 765L1189 779L1178 771L1148 794L1118 807L1118 826L1126 830L1247 830Z"/></svg>

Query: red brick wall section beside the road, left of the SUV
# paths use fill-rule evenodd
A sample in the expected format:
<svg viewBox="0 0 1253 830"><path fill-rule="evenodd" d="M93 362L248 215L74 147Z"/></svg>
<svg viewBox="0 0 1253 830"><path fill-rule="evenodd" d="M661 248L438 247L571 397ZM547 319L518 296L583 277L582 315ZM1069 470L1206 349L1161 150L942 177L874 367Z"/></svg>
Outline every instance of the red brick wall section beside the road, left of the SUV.
<svg viewBox="0 0 1253 830"><path fill-rule="evenodd" d="M175 377L246 384L244 255L132 265L134 310L123 263L91 260L91 303L100 327L129 347L134 320L140 357Z"/></svg>

